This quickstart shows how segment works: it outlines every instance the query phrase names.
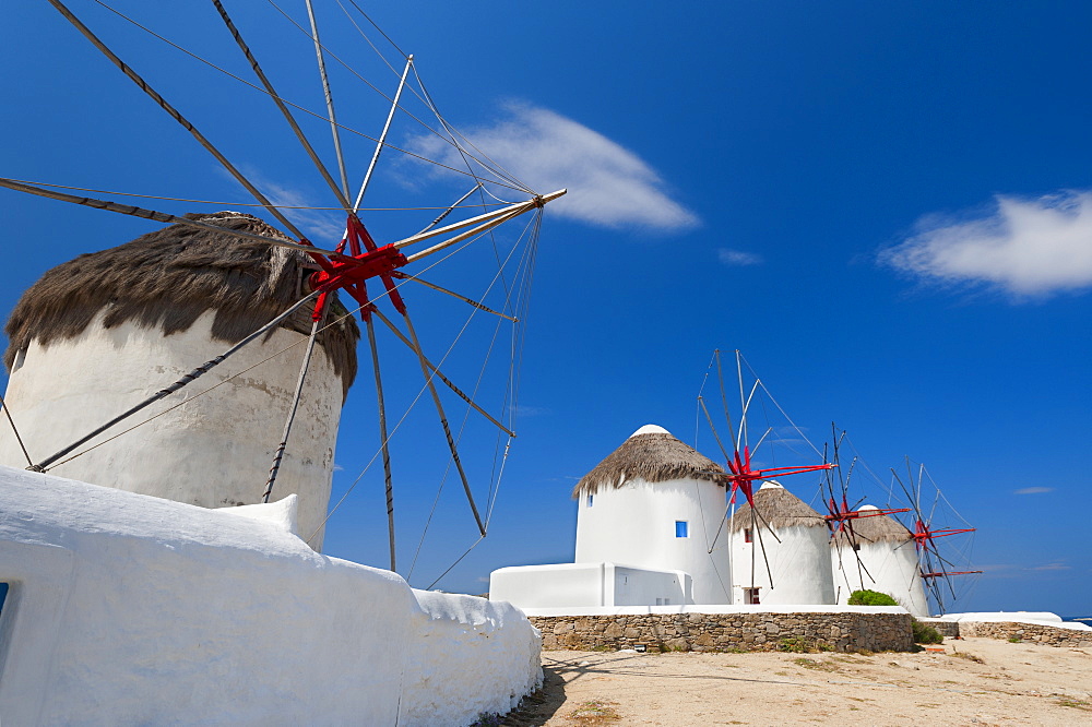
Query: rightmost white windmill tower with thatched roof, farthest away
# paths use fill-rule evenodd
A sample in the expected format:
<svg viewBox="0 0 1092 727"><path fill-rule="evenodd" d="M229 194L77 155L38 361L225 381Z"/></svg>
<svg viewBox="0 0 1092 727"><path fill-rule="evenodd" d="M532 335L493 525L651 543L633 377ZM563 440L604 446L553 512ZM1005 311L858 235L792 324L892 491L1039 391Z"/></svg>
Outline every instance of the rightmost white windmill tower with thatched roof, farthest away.
<svg viewBox="0 0 1092 727"><path fill-rule="evenodd" d="M863 505L858 512L876 510ZM878 591L914 616L928 616L917 549L910 531L888 515L855 517L850 522L853 536L843 532L830 541L838 603L844 604L854 591Z"/></svg>

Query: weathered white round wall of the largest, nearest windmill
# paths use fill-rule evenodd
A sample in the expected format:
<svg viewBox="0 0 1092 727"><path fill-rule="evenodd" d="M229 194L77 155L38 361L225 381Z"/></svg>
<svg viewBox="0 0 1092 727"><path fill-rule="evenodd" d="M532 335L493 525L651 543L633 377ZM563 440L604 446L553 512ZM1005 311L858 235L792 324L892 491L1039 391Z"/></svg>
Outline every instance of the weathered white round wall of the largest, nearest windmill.
<svg viewBox="0 0 1092 727"><path fill-rule="evenodd" d="M188 331L169 336L133 322L107 330L99 320L68 341L48 347L32 343L11 373L4 398L34 462L80 439L229 346L212 338L211 312ZM277 329L269 339L247 345L180 392L80 449L103 442L178 402L193 401L51 473L203 508L260 502L305 345L227 379L304 341L304 335ZM322 347L317 346L273 491L274 500L289 492L299 494L299 528L305 538L319 529L327 514L342 398L341 379ZM26 466L7 425L0 426L0 464ZM321 550L322 532L310 543Z"/></svg>

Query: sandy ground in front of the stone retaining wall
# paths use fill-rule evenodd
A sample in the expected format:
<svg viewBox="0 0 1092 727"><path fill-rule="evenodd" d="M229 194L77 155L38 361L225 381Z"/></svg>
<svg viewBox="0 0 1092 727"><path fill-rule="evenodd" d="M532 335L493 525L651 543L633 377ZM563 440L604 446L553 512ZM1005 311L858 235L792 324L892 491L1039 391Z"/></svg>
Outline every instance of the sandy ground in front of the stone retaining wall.
<svg viewBox="0 0 1092 727"><path fill-rule="evenodd" d="M947 640L943 653L544 652L502 724L1092 725L1092 648Z"/></svg>

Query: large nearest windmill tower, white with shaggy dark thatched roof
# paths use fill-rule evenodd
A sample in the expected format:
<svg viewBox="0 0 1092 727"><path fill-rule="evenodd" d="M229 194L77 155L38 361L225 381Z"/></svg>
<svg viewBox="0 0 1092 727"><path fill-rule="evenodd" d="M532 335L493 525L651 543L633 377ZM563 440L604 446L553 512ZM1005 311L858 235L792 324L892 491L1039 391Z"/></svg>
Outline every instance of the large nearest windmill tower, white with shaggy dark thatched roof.
<svg viewBox="0 0 1092 727"><path fill-rule="evenodd" d="M288 239L250 215L191 217ZM313 270L302 253L173 225L47 272L24 293L7 325L11 376L4 398L31 460L50 456L268 323L305 295ZM309 307L297 311L49 472L205 508L259 502L310 313ZM358 337L351 318L320 335L271 498L299 496L299 533L316 534L316 549ZM26 467L10 426L0 424L0 464Z"/></svg>

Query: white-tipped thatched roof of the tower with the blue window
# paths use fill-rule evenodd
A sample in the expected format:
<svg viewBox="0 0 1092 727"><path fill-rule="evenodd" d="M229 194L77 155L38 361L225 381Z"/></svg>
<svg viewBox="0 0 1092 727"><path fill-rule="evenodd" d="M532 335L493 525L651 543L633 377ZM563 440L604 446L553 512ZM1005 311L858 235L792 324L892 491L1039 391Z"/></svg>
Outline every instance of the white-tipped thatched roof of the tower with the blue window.
<svg viewBox="0 0 1092 727"><path fill-rule="evenodd" d="M649 425L638 429L584 475L573 488L572 497L594 494L605 487L619 488L631 479L646 482L687 477L716 480L716 473L723 472L719 464L675 439L666 429Z"/></svg>

